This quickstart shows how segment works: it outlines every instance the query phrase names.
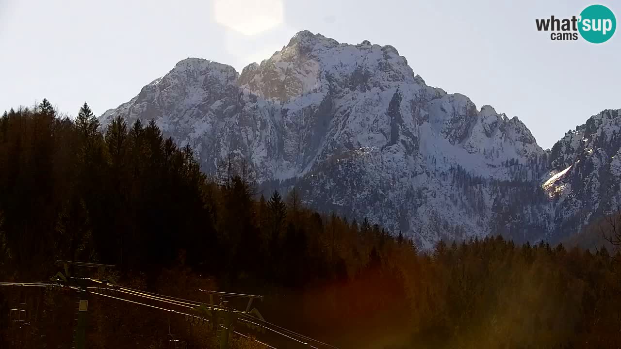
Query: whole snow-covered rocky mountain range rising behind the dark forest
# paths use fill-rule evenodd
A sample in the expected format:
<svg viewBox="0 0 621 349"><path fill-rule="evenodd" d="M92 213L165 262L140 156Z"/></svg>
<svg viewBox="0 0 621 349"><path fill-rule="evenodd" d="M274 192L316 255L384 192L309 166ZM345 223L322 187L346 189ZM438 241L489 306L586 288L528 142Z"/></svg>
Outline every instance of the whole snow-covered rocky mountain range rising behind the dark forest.
<svg viewBox="0 0 621 349"><path fill-rule="evenodd" d="M317 209L368 217L430 247L489 233L553 238L587 222L606 198L601 181L619 183L618 114L592 117L546 152L517 117L427 86L394 47L302 31L241 74L180 61L100 122L155 119L204 171L237 154L260 182L295 185ZM611 142L612 155L601 148Z"/></svg>

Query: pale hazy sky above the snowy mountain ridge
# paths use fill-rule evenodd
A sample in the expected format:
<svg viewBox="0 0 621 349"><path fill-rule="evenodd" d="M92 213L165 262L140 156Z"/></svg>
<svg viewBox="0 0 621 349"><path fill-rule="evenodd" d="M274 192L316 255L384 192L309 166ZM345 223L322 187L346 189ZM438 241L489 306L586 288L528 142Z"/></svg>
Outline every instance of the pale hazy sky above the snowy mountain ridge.
<svg viewBox="0 0 621 349"><path fill-rule="evenodd" d="M597 2L619 18L621 2ZM543 148L621 108L621 33L554 42L535 19L589 1L0 0L0 110L47 97L76 114L128 101L187 57L268 58L302 29L392 45L427 84L518 116Z"/></svg>

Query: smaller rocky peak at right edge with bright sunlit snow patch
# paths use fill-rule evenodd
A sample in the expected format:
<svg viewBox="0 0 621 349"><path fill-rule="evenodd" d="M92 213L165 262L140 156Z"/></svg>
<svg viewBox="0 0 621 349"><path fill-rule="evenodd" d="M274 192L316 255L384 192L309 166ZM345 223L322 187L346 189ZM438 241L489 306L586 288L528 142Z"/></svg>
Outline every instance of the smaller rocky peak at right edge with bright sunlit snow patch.
<svg viewBox="0 0 621 349"><path fill-rule="evenodd" d="M575 233L621 203L621 110L605 110L569 131L550 151L543 188L555 233Z"/></svg>

